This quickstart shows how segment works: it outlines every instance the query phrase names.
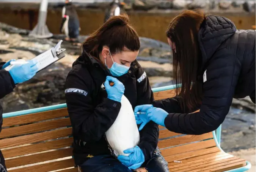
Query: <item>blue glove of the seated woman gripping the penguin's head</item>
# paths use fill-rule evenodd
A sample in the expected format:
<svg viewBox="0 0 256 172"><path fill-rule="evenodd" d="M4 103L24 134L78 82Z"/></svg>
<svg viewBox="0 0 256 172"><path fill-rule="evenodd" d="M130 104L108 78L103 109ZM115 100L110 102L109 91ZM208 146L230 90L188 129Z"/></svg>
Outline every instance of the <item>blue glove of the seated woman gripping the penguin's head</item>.
<svg viewBox="0 0 256 172"><path fill-rule="evenodd" d="M109 82L114 82L114 85L110 86ZM115 77L107 76L104 85L108 94L108 98L117 102L121 102L121 98L124 94L123 83L118 81L118 79Z"/></svg>

